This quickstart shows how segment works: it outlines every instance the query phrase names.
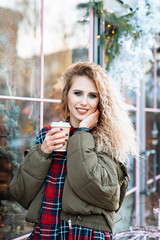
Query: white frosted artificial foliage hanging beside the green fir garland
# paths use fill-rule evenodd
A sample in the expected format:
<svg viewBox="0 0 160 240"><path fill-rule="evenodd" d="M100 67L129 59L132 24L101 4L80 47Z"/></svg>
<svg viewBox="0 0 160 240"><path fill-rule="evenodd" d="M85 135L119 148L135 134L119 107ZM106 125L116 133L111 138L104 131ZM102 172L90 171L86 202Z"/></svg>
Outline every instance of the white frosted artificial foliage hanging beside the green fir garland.
<svg viewBox="0 0 160 240"><path fill-rule="evenodd" d="M155 61L153 49L158 48L160 41L160 1L138 0L135 9L129 23L138 37L131 34L119 37L120 52L110 64L109 73L117 84L123 80L128 88L139 92L150 63Z"/></svg>

